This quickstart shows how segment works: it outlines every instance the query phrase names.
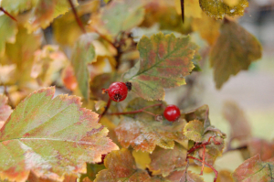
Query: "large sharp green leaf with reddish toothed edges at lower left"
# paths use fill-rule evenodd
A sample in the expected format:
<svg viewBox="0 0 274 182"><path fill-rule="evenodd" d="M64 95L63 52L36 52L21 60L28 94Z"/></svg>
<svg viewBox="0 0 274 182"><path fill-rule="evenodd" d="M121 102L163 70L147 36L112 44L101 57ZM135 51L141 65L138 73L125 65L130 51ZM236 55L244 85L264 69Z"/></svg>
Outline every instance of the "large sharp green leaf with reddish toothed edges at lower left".
<svg viewBox="0 0 274 182"><path fill-rule="evenodd" d="M80 108L75 96L53 87L35 91L19 103L0 130L0 177L25 181L37 177L62 180L86 172L86 162L118 149L98 123L98 114Z"/></svg>

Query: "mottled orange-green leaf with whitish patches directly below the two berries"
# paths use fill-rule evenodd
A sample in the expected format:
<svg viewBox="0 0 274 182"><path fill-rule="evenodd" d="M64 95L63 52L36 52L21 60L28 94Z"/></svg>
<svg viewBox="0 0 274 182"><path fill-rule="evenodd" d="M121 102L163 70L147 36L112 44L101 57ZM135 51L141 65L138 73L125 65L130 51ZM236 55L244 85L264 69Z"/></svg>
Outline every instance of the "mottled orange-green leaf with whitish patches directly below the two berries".
<svg viewBox="0 0 274 182"><path fill-rule="evenodd" d="M125 112L136 111L157 103L159 102L147 102L141 98L136 98L129 102ZM161 106L156 106L146 111L162 114L163 109ZM179 119L174 123L165 119L163 122L159 122L155 121L154 116L145 112L127 114L127 116L121 119L115 129L118 140L123 147L131 145L135 150L152 153L156 145L165 149L173 149L174 141L182 143L186 139L183 134L184 119Z"/></svg>

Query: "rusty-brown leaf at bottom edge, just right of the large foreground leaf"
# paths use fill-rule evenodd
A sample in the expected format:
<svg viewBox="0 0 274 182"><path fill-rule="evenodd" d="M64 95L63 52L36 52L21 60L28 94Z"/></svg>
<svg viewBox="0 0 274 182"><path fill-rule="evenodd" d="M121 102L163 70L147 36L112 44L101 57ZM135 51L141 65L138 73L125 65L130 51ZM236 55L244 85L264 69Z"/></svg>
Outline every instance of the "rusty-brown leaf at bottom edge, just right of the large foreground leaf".
<svg viewBox="0 0 274 182"><path fill-rule="evenodd" d="M144 181L150 178L146 171L136 167L132 153L127 149L112 151L104 162L107 169L101 170L94 182Z"/></svg>

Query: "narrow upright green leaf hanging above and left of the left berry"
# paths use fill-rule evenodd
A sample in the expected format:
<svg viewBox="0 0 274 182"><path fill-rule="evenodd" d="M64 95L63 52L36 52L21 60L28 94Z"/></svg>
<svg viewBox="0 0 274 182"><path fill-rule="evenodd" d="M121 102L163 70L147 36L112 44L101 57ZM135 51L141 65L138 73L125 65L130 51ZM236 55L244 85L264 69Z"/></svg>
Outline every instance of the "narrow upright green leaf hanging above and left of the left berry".
<svg viewBox="0 0 274 182"><path fill-rule="evenodd" d="M95 49L92 45L93 40L94 34L92 33L84 34L79 37L79 40L74 45L71 58L79 90L87 101L89 99L90 91L90 72L88 70L88 64L96 61Z"/></svg>

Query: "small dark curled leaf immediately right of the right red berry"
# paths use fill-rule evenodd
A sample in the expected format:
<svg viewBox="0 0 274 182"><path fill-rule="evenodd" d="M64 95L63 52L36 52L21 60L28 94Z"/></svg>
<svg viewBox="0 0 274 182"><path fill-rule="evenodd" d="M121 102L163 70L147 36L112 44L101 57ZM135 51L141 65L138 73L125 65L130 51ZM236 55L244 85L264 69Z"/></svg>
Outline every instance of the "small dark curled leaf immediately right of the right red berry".
<svg viewBox="0 0 274 182"><path fill-rule="evenodd" d="M193 120L199 120L200 122L204 123L204 128L207 128L208 126L210 126L210 120L208 118L208 115L209 115L208 105L203 105L195 110L184 112L182 113L182 115L187 122L190 122Z"/></svg>

